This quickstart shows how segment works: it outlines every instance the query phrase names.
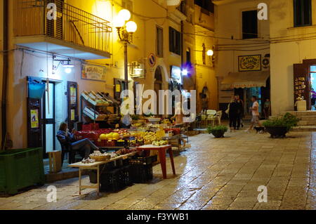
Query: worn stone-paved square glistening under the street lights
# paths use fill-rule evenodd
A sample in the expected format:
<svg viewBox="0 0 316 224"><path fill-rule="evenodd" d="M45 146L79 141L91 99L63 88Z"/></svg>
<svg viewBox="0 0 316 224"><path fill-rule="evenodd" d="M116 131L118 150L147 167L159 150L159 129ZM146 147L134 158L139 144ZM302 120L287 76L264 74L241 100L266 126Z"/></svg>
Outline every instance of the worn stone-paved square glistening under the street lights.
<svg viewBox="0 0 316 224"><path fill-rule="evenodd" d="M154 166L154 180L98 197L78 195L78 179L54 183L58 202L48 203L44 187L0 197L0 209L316 209L316 133L227 133L215 139L190 138L191 149L176 157L177 176L167 161L167 180ZM84 179L88 183L88 177ZM258 203L258 187L268 187L268 202Z"/></svg>

